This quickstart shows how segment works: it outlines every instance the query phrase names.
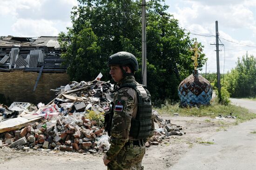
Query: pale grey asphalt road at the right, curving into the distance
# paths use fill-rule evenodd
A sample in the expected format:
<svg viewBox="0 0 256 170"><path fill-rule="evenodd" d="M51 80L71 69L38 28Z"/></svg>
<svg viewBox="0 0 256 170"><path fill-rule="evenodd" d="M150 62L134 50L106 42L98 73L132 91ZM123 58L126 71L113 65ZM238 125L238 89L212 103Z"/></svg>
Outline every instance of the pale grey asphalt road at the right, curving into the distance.
<svg viewBox="0 0 256 170"><path fill-rule="evenodd" d="M256 101L231 99L256 112ZM196 144L171 170L256 170L256 119L217 132Z"/></svg>

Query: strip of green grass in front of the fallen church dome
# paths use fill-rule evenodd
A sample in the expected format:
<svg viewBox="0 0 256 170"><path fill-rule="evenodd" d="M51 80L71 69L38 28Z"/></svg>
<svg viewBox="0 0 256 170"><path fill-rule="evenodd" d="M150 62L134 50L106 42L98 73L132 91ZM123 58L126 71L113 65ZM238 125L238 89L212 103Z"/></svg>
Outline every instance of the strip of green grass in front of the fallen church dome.
<svg viewBox="0 0 256 170"><path fill-rule="evenodd" d="M179 104L170 104L168 102L162 105L161 108L155 108L160 114L167 114L173 116L174 113L179 113L180 116L196 116L215 118L218 115L226 116L232 113L232 116L236 116L236 124L256 118L255 113L251 113L248 109L245 109L236 105L220 105L213 101L210 106L192 107L192 108L180 108Z"/></svg>

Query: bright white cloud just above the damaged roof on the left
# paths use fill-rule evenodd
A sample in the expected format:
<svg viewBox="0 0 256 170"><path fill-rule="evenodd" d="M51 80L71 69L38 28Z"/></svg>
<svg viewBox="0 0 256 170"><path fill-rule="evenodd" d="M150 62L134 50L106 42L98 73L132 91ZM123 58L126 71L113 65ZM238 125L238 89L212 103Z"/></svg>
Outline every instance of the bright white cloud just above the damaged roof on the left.
<svg viewBox="0 0 256 170"><path fill-rule="evenodd" d="M48 20L19 19L12 30L21 37L57 36L59 33L54 22Z"/></svg>

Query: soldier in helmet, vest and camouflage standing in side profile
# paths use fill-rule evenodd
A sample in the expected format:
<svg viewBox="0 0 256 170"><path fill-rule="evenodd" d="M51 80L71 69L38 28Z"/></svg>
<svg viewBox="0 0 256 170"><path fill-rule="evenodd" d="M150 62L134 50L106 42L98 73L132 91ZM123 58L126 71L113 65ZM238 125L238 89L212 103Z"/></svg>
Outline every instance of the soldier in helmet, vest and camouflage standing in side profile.
<svg viewBox="0 0 256 170"><path fill-rule="evenodd" d="M138 62L133 54L117 52L109 57L108 66L119 88L111 109L113 119L109 124L112 125L107 123L106 127L111 145L103 157L104 164L108 170L143 170L145 142L155 129L150 94L135 81Z"/></svg>

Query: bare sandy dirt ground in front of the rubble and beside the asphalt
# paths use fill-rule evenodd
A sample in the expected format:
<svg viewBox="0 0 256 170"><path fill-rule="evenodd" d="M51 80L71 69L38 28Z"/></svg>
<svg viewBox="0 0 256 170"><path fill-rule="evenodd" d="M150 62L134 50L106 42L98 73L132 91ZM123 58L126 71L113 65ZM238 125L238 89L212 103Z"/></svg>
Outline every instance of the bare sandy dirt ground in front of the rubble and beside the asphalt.
<svg viewBox="0 0 256 170"><path fill-rule="evenodd" d="M172 124L178 124L186 132L183 136L171 136L160 145L147 149L143 159L145 170L169 170L195 145L202 145L206 139L223 131L234 119L168 117ZM202 144L200 144L202 143ZM10 148L0 149L0 170L106 170L101 154L79 154L75 152L29 152ZM186 163L187 161L179 161Z"/></svg>

